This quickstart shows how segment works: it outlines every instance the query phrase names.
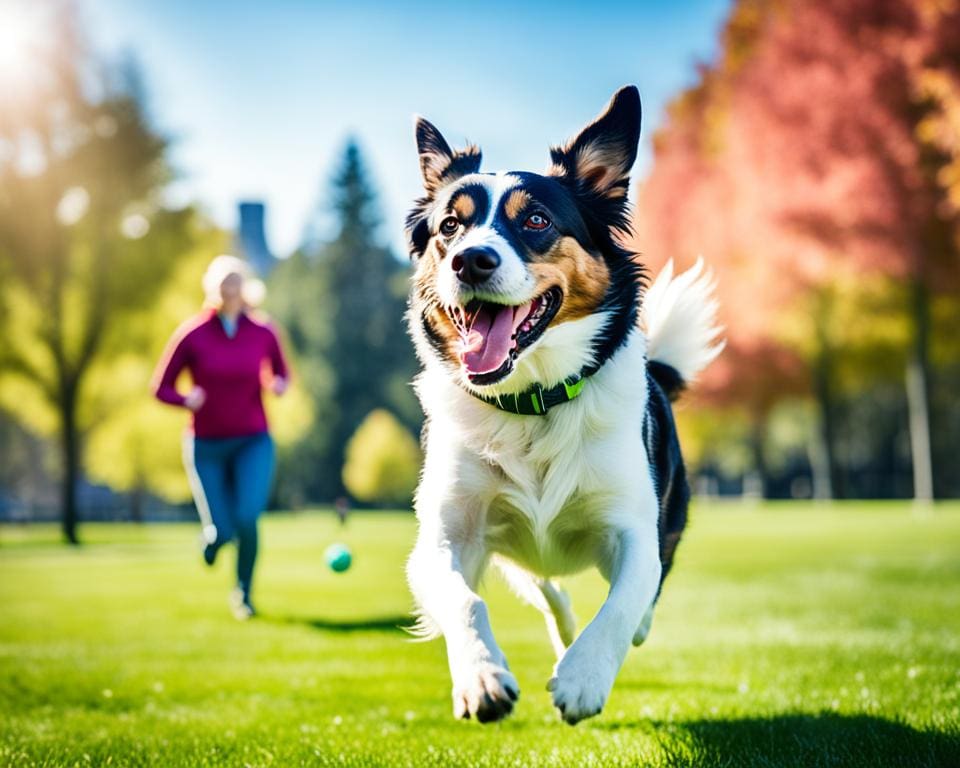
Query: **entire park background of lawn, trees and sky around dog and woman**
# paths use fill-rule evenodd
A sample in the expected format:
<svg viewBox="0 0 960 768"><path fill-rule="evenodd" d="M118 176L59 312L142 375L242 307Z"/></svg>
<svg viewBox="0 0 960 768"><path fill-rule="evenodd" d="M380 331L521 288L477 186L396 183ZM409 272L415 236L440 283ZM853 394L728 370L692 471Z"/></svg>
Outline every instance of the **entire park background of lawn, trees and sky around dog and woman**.
<svg viewBox="0 0 960 768"><path fill-rule="evenodd" d="M403 629L412 115L542 170L631 82L630 245L726 327L691 522L600 716L491 578L521 700L454 721ZM243 623L150 393L223 252L294 374ZM957 0L0 0L0 765L960 765L958 329Z"/></svg>

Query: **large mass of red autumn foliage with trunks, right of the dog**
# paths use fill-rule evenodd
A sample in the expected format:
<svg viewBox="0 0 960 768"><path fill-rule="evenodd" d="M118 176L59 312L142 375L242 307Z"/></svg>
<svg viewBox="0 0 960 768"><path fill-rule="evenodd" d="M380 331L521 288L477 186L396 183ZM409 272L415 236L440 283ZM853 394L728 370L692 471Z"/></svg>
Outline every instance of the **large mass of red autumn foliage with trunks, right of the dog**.
<svg viewBox="0 0 960 768"><path fill-rule="evenodd" d="M669 229L654 227L672 244L716 236L709 252L722 253L724 283L752 296L728 303L728 327L752 316L769 336L794 309L813 341L804 352L835 485L837 369L848 348L838 350L849 343L838 318L863 305L858 281L882 278L889 295L897 283L908 288L899 314L911 329L914 491L932 495L930 297L960 282L958 102L955 6L742 0L720 60L660 136L648 195L666 213L682 181L684 200L699 204Z"/></svg>

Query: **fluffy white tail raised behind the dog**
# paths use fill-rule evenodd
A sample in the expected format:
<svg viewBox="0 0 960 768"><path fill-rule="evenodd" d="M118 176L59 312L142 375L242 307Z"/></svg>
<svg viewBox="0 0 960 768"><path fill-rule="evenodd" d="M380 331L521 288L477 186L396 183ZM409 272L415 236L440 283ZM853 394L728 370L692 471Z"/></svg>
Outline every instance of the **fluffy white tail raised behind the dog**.
<svg viewBox="0 0 960 768"><path fill-rule="evenodd" d="M718 339L717 300L713 273L703 259L673 276L673 260L666 263L643 297L641 324L647 334L647 359L676 369L692 382L723 351Z"/></svg>

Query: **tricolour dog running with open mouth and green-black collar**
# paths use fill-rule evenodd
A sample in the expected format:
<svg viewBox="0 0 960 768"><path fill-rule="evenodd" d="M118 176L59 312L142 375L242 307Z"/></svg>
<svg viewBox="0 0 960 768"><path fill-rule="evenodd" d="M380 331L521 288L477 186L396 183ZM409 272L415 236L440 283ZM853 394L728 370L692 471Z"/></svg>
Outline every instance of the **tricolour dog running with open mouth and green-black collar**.
<svg viewBox="0 0 960 768"><path fill-rule="evenodd" d="M499 720L520 693L476 591L488 564L543 612L548 690L574 724L650 631L686 524L671 401L722 343L702 263L644 294L622 244L640 122L625 87L539 175L481 173L478 147L416 120L407 322L426 422L407 576L417 631L446 640L458 718ZM610 590L576 636L554 578L591 566Z"/></svg>

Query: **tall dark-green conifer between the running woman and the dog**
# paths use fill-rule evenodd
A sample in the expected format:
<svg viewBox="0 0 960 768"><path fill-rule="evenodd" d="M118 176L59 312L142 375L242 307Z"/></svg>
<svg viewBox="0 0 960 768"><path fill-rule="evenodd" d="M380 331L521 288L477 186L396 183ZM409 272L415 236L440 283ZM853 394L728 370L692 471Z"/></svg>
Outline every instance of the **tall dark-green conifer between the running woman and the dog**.
<svg viewBox="0 0 960 768"><path fill-rule="evenodd" d="M333 240L296 254L271 280L271 307L288 329L316 398L315 428L298 445L311 498L343 493L347 440L377 408L410 427L419 410L406 335L406 270L377 237L376 197L356 142L349 141L332 185ZM309 475L309 476L307 476Z"/></svg>

